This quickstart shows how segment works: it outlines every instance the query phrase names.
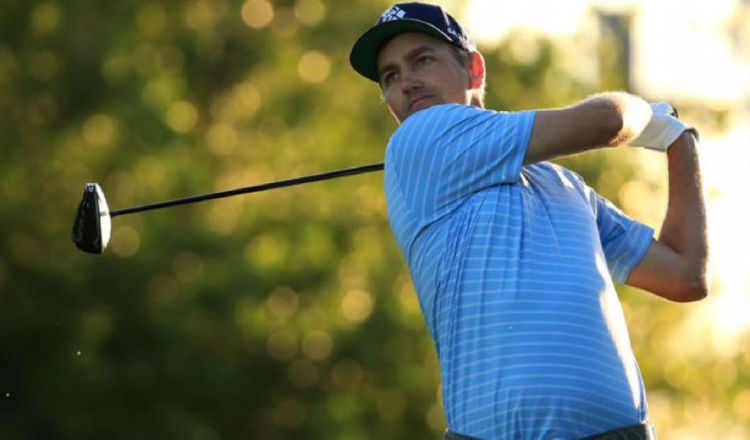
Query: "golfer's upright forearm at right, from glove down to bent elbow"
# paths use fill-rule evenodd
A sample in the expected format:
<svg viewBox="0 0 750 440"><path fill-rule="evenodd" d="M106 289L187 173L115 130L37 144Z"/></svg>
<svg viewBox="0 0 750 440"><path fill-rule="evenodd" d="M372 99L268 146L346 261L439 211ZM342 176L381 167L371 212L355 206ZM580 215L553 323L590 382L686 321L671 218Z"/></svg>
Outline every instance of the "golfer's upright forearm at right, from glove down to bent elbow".
<svg viewBox="0 0 750 440"><path fill-rule="evenodd" d="M659 242L683 258L685 289L706 290L708 243L697 142L683 133L667 151L669 202Z"/></svg>

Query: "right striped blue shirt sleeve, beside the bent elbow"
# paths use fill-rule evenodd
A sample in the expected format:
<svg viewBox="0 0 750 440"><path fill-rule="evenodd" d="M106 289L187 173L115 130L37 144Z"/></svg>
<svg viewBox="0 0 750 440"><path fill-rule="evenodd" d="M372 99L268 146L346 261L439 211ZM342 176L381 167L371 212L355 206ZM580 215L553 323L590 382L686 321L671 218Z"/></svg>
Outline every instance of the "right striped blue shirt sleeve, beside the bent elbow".
<svg viewBox="0 0 750 440"><path fill-rule="evenodd" d="M607 266L614 282L624 284L651 245L654 230L637 222L590 189L592 207Z"/></svg>

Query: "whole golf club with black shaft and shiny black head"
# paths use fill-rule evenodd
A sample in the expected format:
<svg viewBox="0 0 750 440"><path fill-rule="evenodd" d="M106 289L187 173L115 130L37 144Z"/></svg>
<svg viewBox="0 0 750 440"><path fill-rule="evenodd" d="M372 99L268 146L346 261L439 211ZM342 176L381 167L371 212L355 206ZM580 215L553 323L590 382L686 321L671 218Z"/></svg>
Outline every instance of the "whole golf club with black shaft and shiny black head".
<svg viewBox="0 0 750 440"><path fill-rule="evenodd" d="M130 208L109 210L104 191L97 183L87 183L83 189L81 203L78 205L76 219L73 223L73 243L78 249L92 253L101 254L109 244L112 234L112 217L136 212L150 211L153 209L169 208L170 206L185 205L188 203L202 202L204 200L220 199L240 194L266 191L269 189L282 188L286 186L300 185L303 183L317 182L320 180L334 179L337 177L352 176L355 174L369 173L383 169L382 163L362 165L354 168L329 171L320 174L295 177L292 179L278 180L260 185L246 186L227 191L201 194L197 196L184 197L181 199L167 200L165 202L151 203L148 205L133 206Z"/></svg>

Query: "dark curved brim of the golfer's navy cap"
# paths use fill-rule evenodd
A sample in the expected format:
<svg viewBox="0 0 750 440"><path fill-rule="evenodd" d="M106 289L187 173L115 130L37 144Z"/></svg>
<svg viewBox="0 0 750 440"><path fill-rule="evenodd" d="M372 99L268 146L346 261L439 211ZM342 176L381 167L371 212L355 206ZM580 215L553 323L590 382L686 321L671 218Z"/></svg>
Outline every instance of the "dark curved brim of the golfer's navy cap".
<svg viewBox="0 0 750 440"><path fill-rule="evenodd" d="M349 63L360 75L379 82L378 52L385 43L396 35L406 32L420 32L451 43L448 35L435 26L418 20L395 20L370 28L354 43L349 54Z"/></svg>

